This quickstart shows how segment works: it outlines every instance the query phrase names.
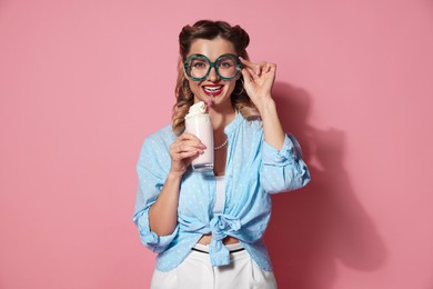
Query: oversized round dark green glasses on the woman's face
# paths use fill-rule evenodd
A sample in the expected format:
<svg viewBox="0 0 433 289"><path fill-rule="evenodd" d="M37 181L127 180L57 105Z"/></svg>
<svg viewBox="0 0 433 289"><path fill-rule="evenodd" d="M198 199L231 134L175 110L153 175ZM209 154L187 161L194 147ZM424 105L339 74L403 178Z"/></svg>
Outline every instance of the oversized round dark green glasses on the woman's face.
<svg viewBox="0 0 433 289"><path fill-rule="evenodd" d="M212 62L203 54L189 56L183 63L187 76L194 81L202 81L208 78L211 69L214 68L216 76L222 80L232 80L239 76L242 70L241 60L238 56L226 53Z"/></svg>

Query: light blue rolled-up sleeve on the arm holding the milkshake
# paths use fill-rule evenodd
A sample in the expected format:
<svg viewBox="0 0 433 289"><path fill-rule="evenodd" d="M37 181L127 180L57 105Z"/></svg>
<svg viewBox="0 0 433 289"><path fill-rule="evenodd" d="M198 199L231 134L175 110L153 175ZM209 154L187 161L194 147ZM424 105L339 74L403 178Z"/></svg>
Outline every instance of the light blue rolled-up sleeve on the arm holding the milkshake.
<svg viewBox="0 0 433 289"><path fill-rule="evenodd" d="M132 219L139 229L142 243L154 252L162 252L178 235L179 226L168 236L158 236L150 229L149 209L157 201L165 180L165 173L158 166L154 155L151 141L144 141L137 165L139 183Z"/></svg>

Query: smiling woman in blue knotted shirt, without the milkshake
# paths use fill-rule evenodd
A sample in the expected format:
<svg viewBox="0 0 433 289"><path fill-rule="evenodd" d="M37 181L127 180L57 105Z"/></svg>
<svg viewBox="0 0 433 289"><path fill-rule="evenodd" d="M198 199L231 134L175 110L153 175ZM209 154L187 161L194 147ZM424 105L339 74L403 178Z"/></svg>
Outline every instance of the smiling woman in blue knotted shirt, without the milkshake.
<svg viewBox="0 0 433 289"><path fill-rule="evenodd" d="M185 26L179 41L172 124L145 139L137 166L133 220L159 253L151 288L276 288L263 242L270 195L310 181L272 99L276 67L251 62L248 33L223 21ZM191 162L211 148L185 132L201 101L215 143L208 172Z"/></svg>

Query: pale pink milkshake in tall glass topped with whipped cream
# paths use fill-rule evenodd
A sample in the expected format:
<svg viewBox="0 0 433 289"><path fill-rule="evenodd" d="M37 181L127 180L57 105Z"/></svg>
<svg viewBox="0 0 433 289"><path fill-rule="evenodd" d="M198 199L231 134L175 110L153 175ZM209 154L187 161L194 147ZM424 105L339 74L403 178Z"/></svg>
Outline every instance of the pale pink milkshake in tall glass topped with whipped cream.
<svg viewBox="0 0 433 289"><path fill-rule="evenodd" d="M190 107L185 116L185 131L198 137L207 149L192 160L194 171L213 170L213 127L203 101Z"/></svg>

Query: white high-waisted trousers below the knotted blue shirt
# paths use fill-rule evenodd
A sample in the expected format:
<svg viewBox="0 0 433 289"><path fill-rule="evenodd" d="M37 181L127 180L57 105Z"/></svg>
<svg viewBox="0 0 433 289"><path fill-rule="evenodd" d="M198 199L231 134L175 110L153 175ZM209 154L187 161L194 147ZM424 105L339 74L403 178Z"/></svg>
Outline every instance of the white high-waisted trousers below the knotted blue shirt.
<svg viewBox="0 0 433 289"><path fill-rule="evenodd" d="M242 248L228 245L230 251ZM208 251L208 246L194 248ZM212 267L209 255L192 250L178 268L162 272L154 270L151 289L275 289L272 271L262 270L246 250L231 252L230 265Z"/></svg>

